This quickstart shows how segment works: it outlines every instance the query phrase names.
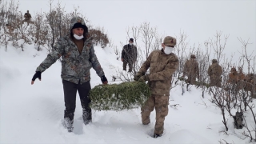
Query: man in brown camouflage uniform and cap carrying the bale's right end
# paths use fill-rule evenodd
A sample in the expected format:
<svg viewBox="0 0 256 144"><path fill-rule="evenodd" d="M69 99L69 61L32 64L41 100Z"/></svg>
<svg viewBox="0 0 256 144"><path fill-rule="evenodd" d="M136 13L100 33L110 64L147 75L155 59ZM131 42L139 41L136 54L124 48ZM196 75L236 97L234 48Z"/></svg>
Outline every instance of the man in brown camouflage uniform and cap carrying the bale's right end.
<svg viewBox="0 0 256 144"><path fill-rule="evenodd" d="M172 53L176 45L176 38L167 36L162 43L162 50L151 52L146 62L134 76L138 82L146 82L150 86L151 96L142 106L142 124L150 123L150 113L156 111L156 122L154 126L154 138L162 136L164 120L168 114L170 86L172 74L178 69L178 57ZM146 70L150 68L150 74Z"/></svg>

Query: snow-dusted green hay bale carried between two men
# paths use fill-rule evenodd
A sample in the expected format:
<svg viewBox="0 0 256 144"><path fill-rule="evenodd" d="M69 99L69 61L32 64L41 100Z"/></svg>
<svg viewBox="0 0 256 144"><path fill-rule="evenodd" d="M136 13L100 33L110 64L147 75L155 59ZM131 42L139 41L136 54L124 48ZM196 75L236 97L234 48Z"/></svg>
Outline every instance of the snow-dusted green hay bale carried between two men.
<svg viewBox="0 0 256 144"><path fill-rule="evenodd" d="M90 90L90 107L94 110L130 110L141 107L149 97L150 87L144 82L98 85Z"/></svg>

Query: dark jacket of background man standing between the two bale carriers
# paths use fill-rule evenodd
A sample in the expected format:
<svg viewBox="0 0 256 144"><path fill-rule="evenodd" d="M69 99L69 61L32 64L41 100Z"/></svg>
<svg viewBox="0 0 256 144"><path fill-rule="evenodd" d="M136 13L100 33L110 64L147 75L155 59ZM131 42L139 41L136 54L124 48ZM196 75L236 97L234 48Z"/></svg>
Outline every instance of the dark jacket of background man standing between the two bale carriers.
<svg viewBox="0 0 256 144"><path fill-rule="evenodd" d="M137 56L138 56L138 51L136 46L134 45L130 46L129 44L123 46L121 58L123 58L126 62L136 61Z"/></svg>

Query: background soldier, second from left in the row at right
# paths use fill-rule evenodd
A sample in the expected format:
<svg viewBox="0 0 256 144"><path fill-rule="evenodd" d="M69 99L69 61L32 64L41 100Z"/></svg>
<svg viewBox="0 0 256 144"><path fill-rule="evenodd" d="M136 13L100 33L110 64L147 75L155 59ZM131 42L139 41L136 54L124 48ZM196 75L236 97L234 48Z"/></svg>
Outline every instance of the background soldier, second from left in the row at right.
<svg viewBox="0 0 256 144"><path fill-rule="evenodd" d="M222 66L218 65L217 59L212 60L212 65L208 68L208 75L210 76L210 86L222 86Z"/></svg>

